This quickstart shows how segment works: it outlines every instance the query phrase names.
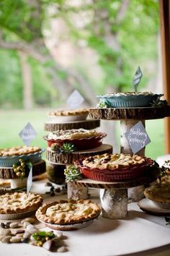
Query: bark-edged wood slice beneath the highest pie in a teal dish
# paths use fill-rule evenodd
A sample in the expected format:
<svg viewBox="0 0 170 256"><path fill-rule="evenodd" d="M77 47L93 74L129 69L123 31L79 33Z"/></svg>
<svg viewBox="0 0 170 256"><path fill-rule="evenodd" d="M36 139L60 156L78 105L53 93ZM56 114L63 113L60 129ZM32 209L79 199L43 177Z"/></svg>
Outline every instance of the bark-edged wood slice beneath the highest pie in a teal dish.
<svg viewBox="0 0 170 256"><path fill-rule="evenodd" d="M140 108L90 108L89 116L92 119L161 119L170 116L170 105L163 107L140 107Z"/></svg>

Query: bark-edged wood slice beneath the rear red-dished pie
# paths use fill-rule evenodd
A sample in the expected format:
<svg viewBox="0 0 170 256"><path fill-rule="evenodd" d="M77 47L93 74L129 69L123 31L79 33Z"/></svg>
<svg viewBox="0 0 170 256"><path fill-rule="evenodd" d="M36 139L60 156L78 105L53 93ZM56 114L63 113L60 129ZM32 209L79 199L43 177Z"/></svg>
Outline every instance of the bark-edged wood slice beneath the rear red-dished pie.
<svg viewBox="0 0 170 256"><path fill-rule="evenodd" d="M102 144L97 148L91 148L89 150L77 150L73 153L62 153L58 154L57 152L47 148L46 158L51 163L63 163L63 164L73 164L76 160L85 158L90 155L102 155L104 153L112 153L112 146L107 144Z"/></svg>

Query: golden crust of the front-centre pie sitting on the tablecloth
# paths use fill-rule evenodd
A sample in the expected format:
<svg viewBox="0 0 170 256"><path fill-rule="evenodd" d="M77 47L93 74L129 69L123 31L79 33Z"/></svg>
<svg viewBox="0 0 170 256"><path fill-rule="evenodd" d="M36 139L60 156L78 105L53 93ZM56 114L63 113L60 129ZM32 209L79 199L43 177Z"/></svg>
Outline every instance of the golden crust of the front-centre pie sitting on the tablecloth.
<svg viewBox="0 0 170 256"><path fill-rule="evenodd" d="M97 218L101 209L91 200L58 200L44 204L36 212L40 221L55 224L71 224Z"/></svg>

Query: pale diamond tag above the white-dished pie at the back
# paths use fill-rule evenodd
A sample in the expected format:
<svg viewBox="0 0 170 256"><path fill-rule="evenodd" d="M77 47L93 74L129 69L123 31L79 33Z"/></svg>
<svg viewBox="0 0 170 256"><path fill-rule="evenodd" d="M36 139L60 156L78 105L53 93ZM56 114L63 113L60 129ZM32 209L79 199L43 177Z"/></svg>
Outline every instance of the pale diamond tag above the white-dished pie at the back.
<svg viewBox="0 0 170 256"><path fill-rule="evenodd" d="M78 90L74 90L67 99L67 105L72 109L79 108L83 102L84 98L81 96Z"/></svg>

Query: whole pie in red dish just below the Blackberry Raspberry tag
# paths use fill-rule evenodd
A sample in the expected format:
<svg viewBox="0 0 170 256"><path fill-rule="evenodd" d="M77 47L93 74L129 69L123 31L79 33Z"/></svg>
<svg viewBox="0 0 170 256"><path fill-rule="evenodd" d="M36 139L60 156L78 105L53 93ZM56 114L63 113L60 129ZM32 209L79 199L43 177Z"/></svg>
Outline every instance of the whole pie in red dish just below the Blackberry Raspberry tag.
<svg viewBox="0 0 170 256"><path fill-rule="evenodd" d="M108 154L89 156L76 162L86 178L102 182L138 178L148 166L154 163L151 158L140 155Z"/></svg>

